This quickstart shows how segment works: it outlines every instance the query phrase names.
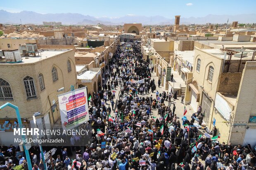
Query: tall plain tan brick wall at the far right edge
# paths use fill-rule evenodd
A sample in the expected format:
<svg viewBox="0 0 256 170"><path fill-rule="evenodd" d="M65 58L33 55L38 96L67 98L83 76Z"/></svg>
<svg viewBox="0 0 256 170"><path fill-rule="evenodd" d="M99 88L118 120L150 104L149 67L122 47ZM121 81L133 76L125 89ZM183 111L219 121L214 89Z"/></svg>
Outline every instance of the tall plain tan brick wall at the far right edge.
<svg viewBox="0 0 256 170"><path fill-rule="evenodd" d="M251 133L255 137L256 133L256 126L255 123L248 123L249 116L255 115L256 105L256 62L251 61L247 62L242 73L242 79L239 86L239 91L237 95L237 105L235 106L235 116L233 118L232 124L235 125L237 122L245 123L244 126L232 126L231 133L230 133L230 142L232 144L243 144L244 135L248 130L253 129L254 132ZM248 142L248 141L247 141ZM255 146L256 140L253 141L254 143L250 143L251 146Z"/></svg>

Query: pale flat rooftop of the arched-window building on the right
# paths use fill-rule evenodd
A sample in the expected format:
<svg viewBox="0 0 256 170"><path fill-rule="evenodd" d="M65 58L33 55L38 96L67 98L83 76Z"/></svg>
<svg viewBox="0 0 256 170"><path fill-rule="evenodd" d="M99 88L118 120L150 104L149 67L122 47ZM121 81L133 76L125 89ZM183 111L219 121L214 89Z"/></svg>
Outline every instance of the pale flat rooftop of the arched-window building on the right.
<svg viewBox="0 0 256 170"><path fill-rule="evenodd" d="M218 58L224 58L225 56L225 51L221 51L220 49L200 49L201 51L204 51L206 53L212 54ZM240 51L241 49L233 49L234 51ZM242 60L250 60L252 58L253 55L253 50L249 50L249 49L244 49L243 51L243 57ZM246 54L246 56L244 56L244 54ZM239 52L238 54L242 54L242 52ZM226 59L228 59L228 55L226 55ZM231 60L240 60L240 57L235 57L235 55L232 55Z"/></svg>

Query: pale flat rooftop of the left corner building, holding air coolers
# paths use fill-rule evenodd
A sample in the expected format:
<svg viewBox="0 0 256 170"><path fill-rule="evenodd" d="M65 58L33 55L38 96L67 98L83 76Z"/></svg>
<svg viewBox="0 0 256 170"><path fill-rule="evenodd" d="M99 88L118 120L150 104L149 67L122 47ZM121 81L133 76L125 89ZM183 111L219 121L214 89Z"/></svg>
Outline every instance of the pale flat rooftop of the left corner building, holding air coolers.
<svg viewBox="0 0 256 170"><path fill-rule="evenodd" d="M65 53L66 51L70 51L71 49L43 49L43 51L39 51L36 53L37 56L29 56L29 57L21 57L22 61L19 63L6 63L5 59L0 60L0 64L9 64L9 65L16 65L16 64L28 64L28 63L36 63L38 61L45 60L47 58L51 58L53 56Z"/></svg>

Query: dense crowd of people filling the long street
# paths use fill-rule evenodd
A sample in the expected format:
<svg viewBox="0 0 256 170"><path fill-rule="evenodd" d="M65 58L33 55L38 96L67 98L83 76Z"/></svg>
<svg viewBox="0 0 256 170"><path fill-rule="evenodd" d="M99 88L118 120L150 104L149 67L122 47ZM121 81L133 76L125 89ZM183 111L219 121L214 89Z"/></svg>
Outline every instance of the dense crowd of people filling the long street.
<svg viewBox="0 0 256 170"><path fill-rule="evenodd" d="M194 119L184 123L178 120L175 104L171 108L164 103L177 99L177 93L156 90L154 68L149 60L143 60L140 44L118 46L107 67L102 86L91 95L91 144L57 147L53 163L47 162L48 169L256 170L256 148L250 144L220 143L221 138L201 135L193 126ZM118 86L120 95L116 96ZM153 115L153 110L158 115ZM200 112L201 109L193 116L201 120ZM74 148L76 154L72 155ZM28 169L19 149L0 149L0 170L13 169L15 165ZM33 170L44 170L39 149L33 147L30 154Z"/></svg>

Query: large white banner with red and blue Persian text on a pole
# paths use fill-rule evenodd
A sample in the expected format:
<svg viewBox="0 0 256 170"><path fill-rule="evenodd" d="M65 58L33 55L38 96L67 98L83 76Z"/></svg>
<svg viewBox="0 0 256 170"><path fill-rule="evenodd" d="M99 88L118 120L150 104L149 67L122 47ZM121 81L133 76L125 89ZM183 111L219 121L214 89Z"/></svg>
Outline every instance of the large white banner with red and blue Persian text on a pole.
<svg viewBox="0 0 256 170"><path fill-rule="evenodd" d="M58 95L63 130L89 121L86 87Z"/></svg>

